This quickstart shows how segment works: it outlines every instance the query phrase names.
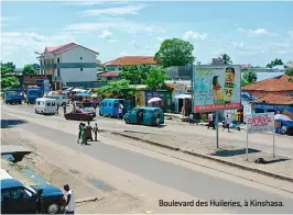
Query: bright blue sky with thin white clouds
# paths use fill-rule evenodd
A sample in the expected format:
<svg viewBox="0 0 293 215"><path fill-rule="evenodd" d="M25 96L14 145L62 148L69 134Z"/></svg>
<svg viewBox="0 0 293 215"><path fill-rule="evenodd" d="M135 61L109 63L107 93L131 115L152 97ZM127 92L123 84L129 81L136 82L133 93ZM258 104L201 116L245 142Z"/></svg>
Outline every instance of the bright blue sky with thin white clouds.
<svg viewBox="0 0 293 215"><path fill-rule="evenodd" d="M77 43L101 63L153 56L166 38L194 45L196 61L226 53L234 64L293 60L293 2L2 1L1 60L18 68L34 52Z"/></svg>

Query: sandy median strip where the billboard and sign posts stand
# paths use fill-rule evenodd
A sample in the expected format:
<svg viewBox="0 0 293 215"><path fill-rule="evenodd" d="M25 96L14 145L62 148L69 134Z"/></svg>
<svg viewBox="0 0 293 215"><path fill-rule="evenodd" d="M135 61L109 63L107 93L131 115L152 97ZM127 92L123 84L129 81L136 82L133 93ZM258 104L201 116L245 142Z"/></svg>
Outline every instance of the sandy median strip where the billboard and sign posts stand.
<svg viewBox="0 0 293 215"><path fill-rule="evenodd" d="M116 135L138 139L148 144L180 150L188 155L208 158L225 165L235 166L241 169L256 171L273 178L293 182L293 160L291 158L267 154L256 149L249 149L249 160L246 161L246 149L220 144L216 148L214 142L203 140L196 137L170 136L150 133L123 132ZM264 158L267 163L256 163L258 158Z"/></svg>

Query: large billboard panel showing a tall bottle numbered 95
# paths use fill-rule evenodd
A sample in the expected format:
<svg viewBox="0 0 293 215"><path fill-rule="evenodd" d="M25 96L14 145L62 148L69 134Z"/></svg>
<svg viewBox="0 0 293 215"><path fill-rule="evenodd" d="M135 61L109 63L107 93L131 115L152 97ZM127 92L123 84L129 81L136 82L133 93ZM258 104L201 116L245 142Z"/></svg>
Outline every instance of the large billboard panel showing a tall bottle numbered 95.
<svg viewBox="0 0 293 215"><path fill-rule="evenodd" d="M241 108L240 66L196 66L193 73L193 88L196 113Z"/></svg>

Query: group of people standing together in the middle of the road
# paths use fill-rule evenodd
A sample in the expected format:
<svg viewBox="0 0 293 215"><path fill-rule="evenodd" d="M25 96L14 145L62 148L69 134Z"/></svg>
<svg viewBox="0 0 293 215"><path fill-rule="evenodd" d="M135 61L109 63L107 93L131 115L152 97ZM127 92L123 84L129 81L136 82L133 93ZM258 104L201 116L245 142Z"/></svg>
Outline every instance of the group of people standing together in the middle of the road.
<svg viewBox="0 0 293 215"><path fill-rule="evenodd" d="M95 135L95 142L97 142L98 140L97 136L99 132L97 123L95 124L94 127L91 127L90 122L87 122L87 125L85 123L79 123L77 144L87 145L87 140L94 142L93 132ZM80 139L82 143L79 143Z"/></svg>

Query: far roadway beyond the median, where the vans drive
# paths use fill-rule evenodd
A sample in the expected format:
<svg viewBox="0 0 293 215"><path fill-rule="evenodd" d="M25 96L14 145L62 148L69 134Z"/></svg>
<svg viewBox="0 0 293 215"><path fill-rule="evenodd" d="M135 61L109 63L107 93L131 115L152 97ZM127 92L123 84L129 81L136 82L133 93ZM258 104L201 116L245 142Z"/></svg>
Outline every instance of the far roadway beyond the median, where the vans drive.
<svg viewBox="0 0 293 215"><path fill-rule="evenodd" d="M70 108L68 108L69 110ZM2 112L7 113L15 113L19 112L25 116L34 116L34 117L44 117L42 115L36 115L33 110L33 105L3 105ZM48 116L50 120L65 122L66 120L62 117L63 113L59 116ZM166 126L160 129L154 127L146 126L137 126L137 125L126 125L123 122L113 120L113 118L105 118L97 117L96 120L98 125L101 128L109 131L135 131L135 132L150 132L150 133L159 133L166 135L177 135L177 136L196 136L197 138L204 139L206 143L215 142L215 131L207 129L203 126L189 126L185 125L174 125L174 123L169 123L166 121ZM68 121L67 121L68 122ZM249 147L263 150L267 152L272 152L272 143L273 137L269 134L253 134L249 136ZM246 133L243 131L234 133L219 132L219 142L228 145L236 145L240 147L246 147ZM283 155L287 157L293 157L293 138L290 136L275 136L275 154Z"/></svg>

